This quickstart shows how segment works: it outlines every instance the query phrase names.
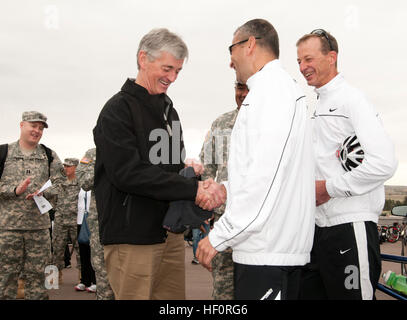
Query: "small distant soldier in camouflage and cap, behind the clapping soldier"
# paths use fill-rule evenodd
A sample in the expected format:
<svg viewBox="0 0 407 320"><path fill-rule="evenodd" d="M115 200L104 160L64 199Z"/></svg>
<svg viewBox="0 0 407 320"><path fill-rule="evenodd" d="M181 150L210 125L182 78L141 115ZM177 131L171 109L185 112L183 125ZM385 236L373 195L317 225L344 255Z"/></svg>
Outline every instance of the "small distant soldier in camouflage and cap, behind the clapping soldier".
<svg viewBox="0 0 407 320"><path fill-rule="evenodd" d="M62 279L62 269L65 267L64 253L69 238L72 240L72 246L76 252L76 263L79 270L81 265L77 240L78 196L81 187L75 176L78 163L79 160L75 158L65 159L63 165L66 178L59 186L58 203L55 208L52 247L54 264L59 270L60 280Z"/></svg>

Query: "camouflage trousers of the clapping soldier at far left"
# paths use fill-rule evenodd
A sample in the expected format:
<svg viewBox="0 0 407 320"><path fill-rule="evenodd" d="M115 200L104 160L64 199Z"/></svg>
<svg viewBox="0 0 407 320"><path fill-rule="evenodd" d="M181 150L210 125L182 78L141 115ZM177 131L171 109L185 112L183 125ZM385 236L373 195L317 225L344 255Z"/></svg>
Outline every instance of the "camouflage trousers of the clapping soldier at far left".
<svg viewBox="0 0 407 320"><path fill-rule="evenodd" d="M47 300L45 267L51 259L49 230L0 230L0 300L16 299L25 279L25 299Z"/></svg>

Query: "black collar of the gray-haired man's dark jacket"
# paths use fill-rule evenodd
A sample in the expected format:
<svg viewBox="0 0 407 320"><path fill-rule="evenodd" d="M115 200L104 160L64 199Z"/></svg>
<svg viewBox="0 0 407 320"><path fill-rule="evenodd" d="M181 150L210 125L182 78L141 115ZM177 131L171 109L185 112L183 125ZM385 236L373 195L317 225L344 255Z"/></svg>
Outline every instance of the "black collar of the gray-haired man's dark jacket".
<svg viewBox="0 0 407 320"><path fill-rule="evenodd" d="M172 108L172 101L165 93L155 95L149 94L146 88L136 83L135 79L128 78L121 90L137 97L137 99L141 100L143 104L151 107L160 115L165 113L168 116L168 113Z"/></svg>

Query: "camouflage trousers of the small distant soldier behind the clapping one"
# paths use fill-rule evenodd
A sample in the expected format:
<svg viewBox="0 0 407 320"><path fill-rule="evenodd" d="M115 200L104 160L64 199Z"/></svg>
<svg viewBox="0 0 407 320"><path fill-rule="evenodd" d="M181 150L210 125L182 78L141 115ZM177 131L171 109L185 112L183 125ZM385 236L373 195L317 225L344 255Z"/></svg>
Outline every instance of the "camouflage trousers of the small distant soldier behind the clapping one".
<svg viewBox="0 0 407 320"><path fill-rule="evenodd" d="M69 238L71 238L73 249L76 252L76 268L80 270L81 260L79 256L78 226L77 224L60 224L56 220L54 223L54 228L52 229L54 265L58 268L58 270L63 270L65 268L65 247L68 244Z"/></svg>

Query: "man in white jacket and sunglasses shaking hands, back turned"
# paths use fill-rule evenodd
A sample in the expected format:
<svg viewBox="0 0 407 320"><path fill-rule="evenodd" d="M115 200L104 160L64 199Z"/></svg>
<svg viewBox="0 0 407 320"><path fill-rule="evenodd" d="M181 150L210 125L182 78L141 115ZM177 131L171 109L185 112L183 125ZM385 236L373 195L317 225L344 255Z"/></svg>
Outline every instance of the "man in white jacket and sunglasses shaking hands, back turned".
<svg viewBox="0 0 407 320"><path fill-rule="evenodd" d="M305 96L281 67L269 22L238 28L229 50L250 92L232 131L226 210L197 257L210 269L218 251L233 249L235 299L296 299L315 223Z"/></svg>

